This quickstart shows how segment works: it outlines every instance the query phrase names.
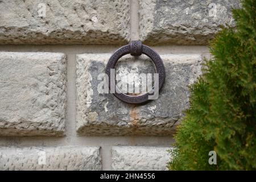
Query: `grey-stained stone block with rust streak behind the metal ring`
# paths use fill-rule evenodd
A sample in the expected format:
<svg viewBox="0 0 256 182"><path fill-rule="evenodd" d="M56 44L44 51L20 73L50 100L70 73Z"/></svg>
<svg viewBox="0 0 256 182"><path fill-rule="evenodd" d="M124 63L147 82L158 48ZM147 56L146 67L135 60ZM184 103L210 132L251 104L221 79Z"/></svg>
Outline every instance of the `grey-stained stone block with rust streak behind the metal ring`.
<svg viewBox="0 0 256 182"><path fill-rule="evenodd" d="M77 55L77 132L80 135L172 135L189 106L188 85L201 74L200 55L160 55L166 67L166 81L159 98L144 105L131 105L113 94L99 93L110 54ZM123 56L118 74L152 73L146 56L134 60Z"/></svg>

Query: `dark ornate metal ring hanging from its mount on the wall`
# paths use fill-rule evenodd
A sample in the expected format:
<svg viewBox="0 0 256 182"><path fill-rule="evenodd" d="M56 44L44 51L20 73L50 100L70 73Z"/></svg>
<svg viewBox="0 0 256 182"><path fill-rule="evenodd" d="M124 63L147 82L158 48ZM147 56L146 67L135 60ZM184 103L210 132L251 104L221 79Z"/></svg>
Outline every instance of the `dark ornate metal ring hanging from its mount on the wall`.
<svg viewBox="0 0 256 182"><path fill-rule="evenodd" d="M106 65L106 74L109 77L109 89L110 89L110 85L112 85L112 84L115 85L115 80L110 79L110 70L115 68L115 65L117 64L118 60L122 56L127 55L129 53L133 56L139 56L143 53L144 55L147 55L148 57L150 57L150 59L155 64L156 73L159 74L159 80L158 80L159 86L158 87L160 90L163 86L164 78L166 77L166 72L165 72L163 61L162 61L161 57L158 55L158 53L156 53L150 47L144 46L141 43L141 41L139 41L139 40L132 41L132 42L130 42L129 45L119 48L110 57L108 64ZM112 84L111 84L111 82L112 82ZM117 89L117 88L115 88L115 89ZM147 92L146 94L143 94L141 96L128 96L127 94L121 93L120 90L119 90L119 92L115 92L113 94L115 97L119 98L119 100L122 100L129 104L143 104L145 102L150 101L148 99L148 96L150 96L151 94L154 94L155 91L159 92L159 90L154 90L154 88L152 88L152 90L150 92Z"/></svg>

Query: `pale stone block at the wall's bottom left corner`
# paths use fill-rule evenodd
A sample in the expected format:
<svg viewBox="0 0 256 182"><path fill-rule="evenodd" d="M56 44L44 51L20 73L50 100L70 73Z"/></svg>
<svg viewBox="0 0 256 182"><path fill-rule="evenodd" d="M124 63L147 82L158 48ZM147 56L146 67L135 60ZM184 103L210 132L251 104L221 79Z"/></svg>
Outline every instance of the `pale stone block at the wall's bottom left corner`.
<svg viewBox="0 0 256 182"><path fill-rule="evenodd" d="M99 147L0 147L0 170L101 170Z"/></svg>

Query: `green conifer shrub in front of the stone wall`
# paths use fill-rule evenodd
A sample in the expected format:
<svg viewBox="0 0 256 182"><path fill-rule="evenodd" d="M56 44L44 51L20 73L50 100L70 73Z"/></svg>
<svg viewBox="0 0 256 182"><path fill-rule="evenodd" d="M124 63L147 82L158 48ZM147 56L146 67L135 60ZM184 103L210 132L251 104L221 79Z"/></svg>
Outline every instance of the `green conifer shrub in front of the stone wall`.
<svg viewBox="0 0 256 182"><path fill-rule="evenodd" d="M213 58L191 88L191 107L175 136L171 170L256 169L256 0L233 10L236 28L210 44ZM210 165L209 151L217 152Z"/></svg>

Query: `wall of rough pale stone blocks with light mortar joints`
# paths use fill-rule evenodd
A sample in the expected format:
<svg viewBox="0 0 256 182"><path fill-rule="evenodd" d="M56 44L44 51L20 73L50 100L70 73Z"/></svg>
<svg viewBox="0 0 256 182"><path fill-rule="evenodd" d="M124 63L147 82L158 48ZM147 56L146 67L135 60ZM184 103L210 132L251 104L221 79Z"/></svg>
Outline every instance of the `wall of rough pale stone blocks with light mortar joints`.
<svg viewBox="0 0 256 182"><path fill-rule="evenodd" d="M238 1L0 1L0 169L166 170L189 85ZM112 53L141 39L162 57L159 98L98 92ZM22 44L22 45L21 45ZM117 75L152 73L123 56ZM136 87L136 84L135 84Z"/></svg>

